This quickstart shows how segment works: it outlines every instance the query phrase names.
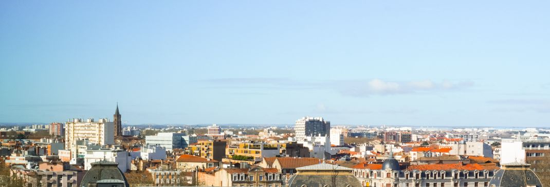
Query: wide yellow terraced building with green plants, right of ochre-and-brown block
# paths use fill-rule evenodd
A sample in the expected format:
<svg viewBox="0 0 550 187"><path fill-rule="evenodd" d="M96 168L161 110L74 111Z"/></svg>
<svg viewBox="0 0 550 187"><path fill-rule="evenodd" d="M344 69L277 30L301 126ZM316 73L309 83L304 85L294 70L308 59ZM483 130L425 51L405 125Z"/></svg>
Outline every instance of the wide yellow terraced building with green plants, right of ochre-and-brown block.
<svg viewBox="0 0 550 187"><path fill-rule="evenodd" d="M229 146L226 156L233 160L254 160L262 161L262 157L273 157L279 155L279 145L265 143L239 143Z"/></svg>

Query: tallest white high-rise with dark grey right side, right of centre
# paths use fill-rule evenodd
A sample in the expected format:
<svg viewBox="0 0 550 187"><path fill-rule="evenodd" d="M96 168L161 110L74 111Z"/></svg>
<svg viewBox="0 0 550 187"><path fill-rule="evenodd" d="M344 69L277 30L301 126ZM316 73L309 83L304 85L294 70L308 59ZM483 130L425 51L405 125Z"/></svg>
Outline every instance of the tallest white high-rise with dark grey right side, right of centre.
<svg viewBox="0 0 550 187"><path fill-rule="evenodd" d="M296 140L303 140L306 136L327 136L331 135L331 122L324 121L322 117L303 117L296 120L294 126Z"/></svg>

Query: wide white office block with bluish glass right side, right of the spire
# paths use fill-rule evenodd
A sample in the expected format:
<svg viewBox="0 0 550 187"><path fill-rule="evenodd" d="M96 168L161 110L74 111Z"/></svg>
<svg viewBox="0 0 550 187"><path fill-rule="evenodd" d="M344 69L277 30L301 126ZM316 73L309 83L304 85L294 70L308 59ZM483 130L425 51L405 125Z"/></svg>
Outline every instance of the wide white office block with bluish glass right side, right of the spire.
<svg viewBox="0 0 550 187"><path fill-rule="evenodd" d="M189 144L196 142L196 137L187 136L185 133L158 133L145 136L145 145L159 145L166 148L167 151L187 148Z"/></svg>

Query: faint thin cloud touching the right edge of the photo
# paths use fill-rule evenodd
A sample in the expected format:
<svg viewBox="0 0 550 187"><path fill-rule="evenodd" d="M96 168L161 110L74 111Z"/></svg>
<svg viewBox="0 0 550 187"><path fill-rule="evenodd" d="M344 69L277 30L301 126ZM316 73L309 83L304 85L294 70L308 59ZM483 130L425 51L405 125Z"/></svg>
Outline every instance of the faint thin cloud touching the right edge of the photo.
<svg viewBox="0 0 550 187"><path fill-rule="evenodd" d="M499 112L550 112L550 100L543 99L500 99L487 101L497 105L494 111Z"/></svg>

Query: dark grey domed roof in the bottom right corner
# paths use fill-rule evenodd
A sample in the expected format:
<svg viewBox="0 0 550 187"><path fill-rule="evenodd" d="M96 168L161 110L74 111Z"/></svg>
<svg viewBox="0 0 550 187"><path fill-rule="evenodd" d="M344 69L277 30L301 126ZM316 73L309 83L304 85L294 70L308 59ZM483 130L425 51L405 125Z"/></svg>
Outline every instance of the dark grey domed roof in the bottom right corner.
<svg viewBox="0 0 550 187"><path fill-rule="evenodd" d="M542 186L540 179L529 167L531 165L524 163L508 163L503 164L502 169L493 175L489 186L499 186L499 187L517 187L517 186L528 186L536 185L537 187Z"/></svg>

